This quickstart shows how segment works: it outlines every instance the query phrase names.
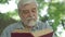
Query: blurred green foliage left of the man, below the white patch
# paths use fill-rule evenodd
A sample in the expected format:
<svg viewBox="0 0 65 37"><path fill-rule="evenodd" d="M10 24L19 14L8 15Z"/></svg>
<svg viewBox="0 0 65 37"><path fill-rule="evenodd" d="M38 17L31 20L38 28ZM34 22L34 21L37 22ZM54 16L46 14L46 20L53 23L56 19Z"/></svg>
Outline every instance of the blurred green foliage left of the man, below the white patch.
<svg viewBox="0 0 65 37"><path fill-rule="evenodd" d="M4 20L4 21L6 21L6 20L10 20L10 17L12 17L13 15L18 15L18 13L17 13L18 11L17 10L15 10L15 11L13 11L13 12L6 12L6 13L0 13L0 18L2 18L2 20Z"/></svg>

